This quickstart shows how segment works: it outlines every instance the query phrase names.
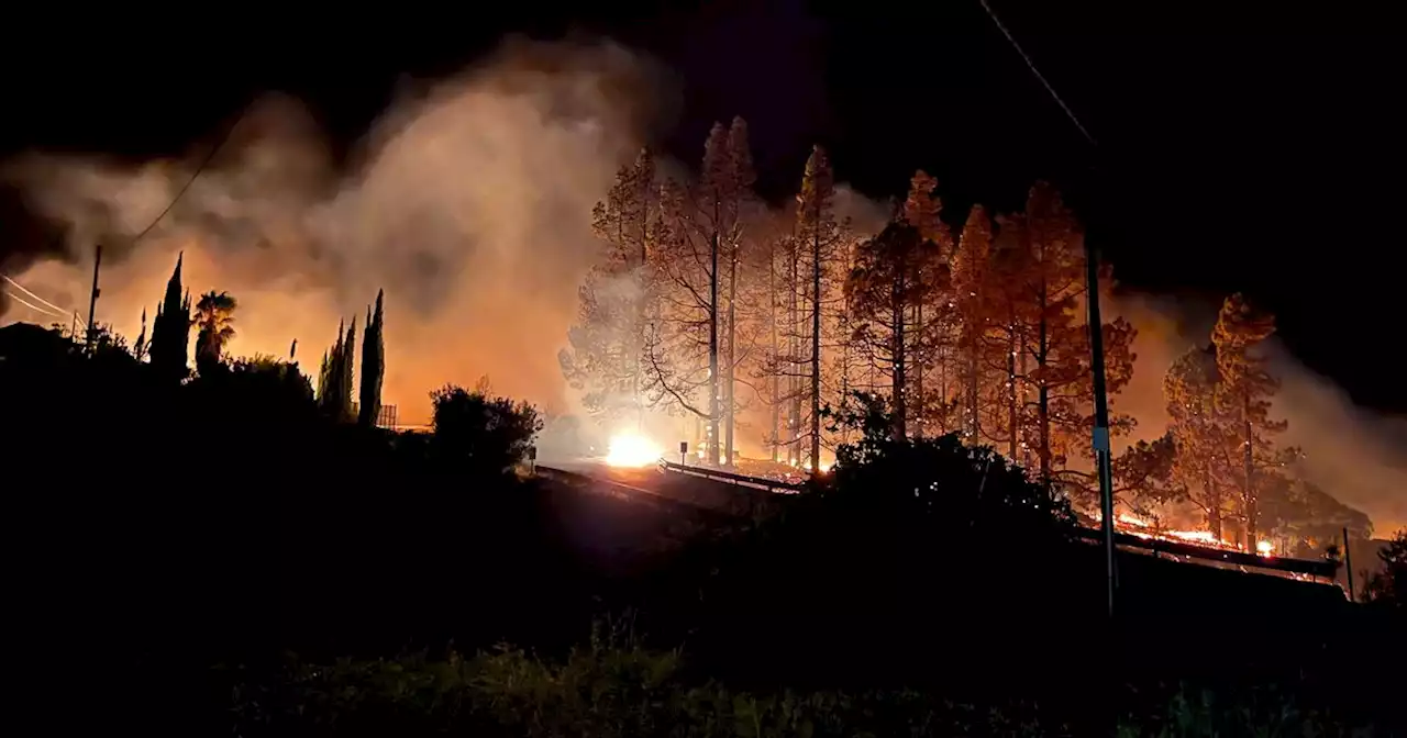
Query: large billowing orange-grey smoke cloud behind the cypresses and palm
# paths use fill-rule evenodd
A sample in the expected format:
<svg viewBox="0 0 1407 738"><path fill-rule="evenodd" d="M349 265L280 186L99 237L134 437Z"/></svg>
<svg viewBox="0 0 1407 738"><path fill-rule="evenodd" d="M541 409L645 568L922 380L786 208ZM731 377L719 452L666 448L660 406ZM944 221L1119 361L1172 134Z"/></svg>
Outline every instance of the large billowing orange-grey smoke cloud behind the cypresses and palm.
<svg viewBox="0 0 1407 738"><path fill-rule="evenodd" d="M297 339L314 371L339 319L364 321L384 287L386 402L401 423L426 419L429 389L481 375L560 409L556 354L599 249L591 208L647 139L658 83L653 65L616 45L509 42L393 105L345 164L297 101L266 98L136 246L131 236L186 184L193 162L30 155L4 180L66 238L31 233L6 273L86 313L93 245L103 243L98 321L132 337L183 250L194 294L239 299L235 354L287 356Z"/></svg>

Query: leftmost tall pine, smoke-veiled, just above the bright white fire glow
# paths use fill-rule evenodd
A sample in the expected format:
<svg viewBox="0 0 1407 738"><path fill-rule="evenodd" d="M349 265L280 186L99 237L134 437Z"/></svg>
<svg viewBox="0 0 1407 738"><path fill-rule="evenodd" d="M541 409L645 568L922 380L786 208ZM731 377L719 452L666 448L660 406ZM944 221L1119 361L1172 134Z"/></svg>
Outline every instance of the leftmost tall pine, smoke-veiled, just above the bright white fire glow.
<svg viewBox="0 0 1407 738"><path fill-rule="evenodd" d="M584 391L582 402L597 417L633 415L643 422L643 351L653 305L647 264L658 218L654 157L642 149L592 211L605 257L578 290L571 346L559 354L563 375Z"/></svg>

